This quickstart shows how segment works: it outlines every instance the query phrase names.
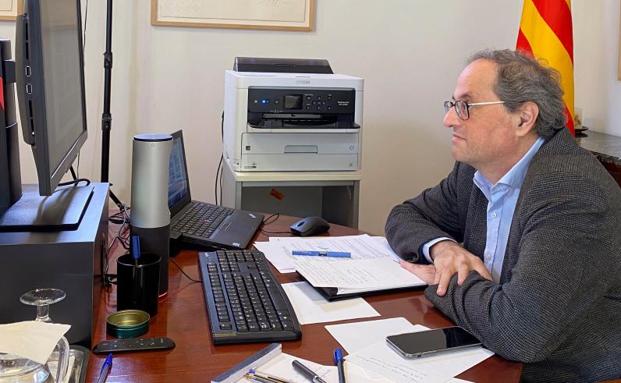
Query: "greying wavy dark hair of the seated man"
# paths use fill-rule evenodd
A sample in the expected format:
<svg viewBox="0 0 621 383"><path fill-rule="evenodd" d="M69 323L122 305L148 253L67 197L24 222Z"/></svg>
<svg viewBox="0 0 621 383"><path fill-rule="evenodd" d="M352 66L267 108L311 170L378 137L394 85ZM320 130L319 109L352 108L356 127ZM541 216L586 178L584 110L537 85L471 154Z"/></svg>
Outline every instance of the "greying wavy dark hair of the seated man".
<svg viewBox="0 0 621 383"><path fill-rule="evenodd" d="M468 59L468 64L476 60L492 61L498 66L494 92L510 112L527 101L537 104L539 116L535 129L541 137L551 137L565 127L565 104L558 71L522 52L508 49L479 51Z"/></svg>

